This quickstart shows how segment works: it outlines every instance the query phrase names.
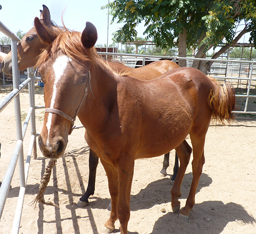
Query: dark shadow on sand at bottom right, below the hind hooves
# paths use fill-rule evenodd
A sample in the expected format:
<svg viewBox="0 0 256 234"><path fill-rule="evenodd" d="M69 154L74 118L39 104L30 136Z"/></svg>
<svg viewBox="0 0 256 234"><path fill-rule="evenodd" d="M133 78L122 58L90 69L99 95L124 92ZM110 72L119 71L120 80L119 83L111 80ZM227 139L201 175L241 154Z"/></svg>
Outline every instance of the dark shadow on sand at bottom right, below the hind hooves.
<svg viewBox="0 0 256 234"><path fill-rule="evenodd" d="M219 234L229 222L238 222L241 226L254 226L256 223L254 217L248 214L241 205L236 203L223 204L222 201L204 201L201 204L195 204L195 209L191 210L191 216L187 222L178 219L178 215L179 212L169 212L159 217L150 234Z"/></svg>

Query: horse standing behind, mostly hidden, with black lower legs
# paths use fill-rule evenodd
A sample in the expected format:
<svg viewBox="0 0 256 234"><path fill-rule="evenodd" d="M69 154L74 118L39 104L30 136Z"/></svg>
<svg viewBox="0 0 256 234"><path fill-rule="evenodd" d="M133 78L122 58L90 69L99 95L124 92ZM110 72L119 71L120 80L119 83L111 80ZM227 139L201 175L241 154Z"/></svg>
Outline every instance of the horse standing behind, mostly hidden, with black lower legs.
<svg viewBox="0 0 256 234"><path fill-rule="evenodd" d="M63 30L62 27L57 26L52 20L50 11L47 6L43 5L43 10L41 11L41 22L44 26L50 28L55 35L58 35ZM34 67L37 61L38 55L43 49L46 49L47 43L43 42L36 33L35 28L33 27L28 31L28 33L21 39L21 42L18 45L18 68L19 70L25 69L28 67ZM107 62L107 61L106 61ZM145 67L140 67L138 69L130 68L124 66L122 63L116 63L108 61L109 66L114 69L116 72L129 72L129 76L137 79L154 79L158 76L161 76L164 72L179 68L178 64L169 61L162 60L156 61L153 64L150 64ZM2 63L3 71L5 74L12 73L12 54L11 52L7 54L6 58ZM170 153L164 155L163 168L161 173L167 175L166 169L169 166L169 157ZM88 198L93 195L95 190L95 176L98 166L99 158L98 156L90 150L89 154L89 184L86 189L85 194L79 199L77 205L79 207L84 207L89 203ZM175 180L179 169L179 159L177 154L175 155L175 164L173 167L173 175L171 181Z"/></svg>

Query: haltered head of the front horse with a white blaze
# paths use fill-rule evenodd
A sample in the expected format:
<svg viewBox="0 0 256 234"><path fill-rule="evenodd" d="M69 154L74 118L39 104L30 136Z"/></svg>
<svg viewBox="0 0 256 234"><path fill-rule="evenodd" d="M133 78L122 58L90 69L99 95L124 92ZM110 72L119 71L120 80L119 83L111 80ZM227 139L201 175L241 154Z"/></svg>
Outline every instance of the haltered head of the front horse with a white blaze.
<svg viewBox="0 0 256 234"><path fill-rule="evenodd" d="M66 149L73 121L90 88L91 63L88 54L97 41L95 27L87 22L82 33L63 31L56 38L35 18L42 41L49 44L38 58L44 82L45 116L39 147L47 158L58 159Z"/></svg>

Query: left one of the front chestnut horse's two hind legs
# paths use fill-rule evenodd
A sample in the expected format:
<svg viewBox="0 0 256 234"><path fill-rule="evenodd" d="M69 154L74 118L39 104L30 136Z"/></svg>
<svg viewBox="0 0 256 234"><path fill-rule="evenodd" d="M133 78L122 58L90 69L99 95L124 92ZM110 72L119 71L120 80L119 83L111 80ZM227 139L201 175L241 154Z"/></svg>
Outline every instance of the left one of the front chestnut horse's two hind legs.
<svg viewBox="0 0 256 234"><path fill-rule="evenodd" d="M180 187L192 152L192 149L186 140L184 140L175 150L180 159L180 168L171 190L173 212L179 211L180 209L180 201L178 200L179 197L181 197Z"/></svg>

